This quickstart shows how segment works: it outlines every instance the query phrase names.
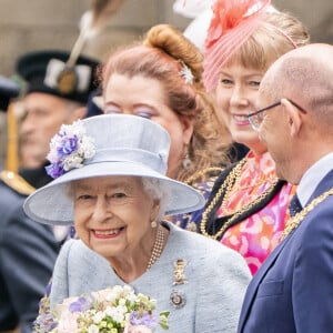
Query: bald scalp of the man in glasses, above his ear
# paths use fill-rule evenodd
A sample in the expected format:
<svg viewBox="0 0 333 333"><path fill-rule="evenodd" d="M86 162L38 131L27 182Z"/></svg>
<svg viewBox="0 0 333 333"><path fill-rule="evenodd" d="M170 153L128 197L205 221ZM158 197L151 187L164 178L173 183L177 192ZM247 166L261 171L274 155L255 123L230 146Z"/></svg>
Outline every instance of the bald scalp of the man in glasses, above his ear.
<svg viewBox="0 0 333 333"><path fill-rule="evenodd" d="M265 73L260 93L297 101L314 119L333 124L332 78L333 46L309 44L278 59Z"/></svg>

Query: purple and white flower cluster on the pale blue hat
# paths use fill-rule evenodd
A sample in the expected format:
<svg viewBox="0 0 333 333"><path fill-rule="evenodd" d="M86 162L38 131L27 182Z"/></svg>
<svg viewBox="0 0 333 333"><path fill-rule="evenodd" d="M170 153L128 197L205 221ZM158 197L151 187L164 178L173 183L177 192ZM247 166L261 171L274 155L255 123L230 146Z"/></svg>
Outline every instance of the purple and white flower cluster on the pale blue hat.
<svg viewBox="0 0 333 333"><path fill-rule="evenodd" d="M87 135L80 120L71 125L62 125L50 143L47 159L51 164L46 167L47 173L56 179L72 169L83 167L84 161L94 153L93 138Z"/></svg>

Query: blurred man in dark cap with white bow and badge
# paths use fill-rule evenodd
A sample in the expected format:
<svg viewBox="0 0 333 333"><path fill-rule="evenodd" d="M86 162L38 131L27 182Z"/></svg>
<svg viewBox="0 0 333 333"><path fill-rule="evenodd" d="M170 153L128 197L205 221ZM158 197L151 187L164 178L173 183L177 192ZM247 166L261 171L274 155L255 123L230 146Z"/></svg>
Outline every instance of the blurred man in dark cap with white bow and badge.
<svg viewBox="0 0 333 333"><path fill-rule="evenodd" d="M97 59L82 54L72 59L71 52L63 50L30 52L18 59L17 72L27 82L19 133L19 174L34 189L51 181L44 170L46 158L50 139L61 124L91 115L88 110L92 108L88 105L98 88L99 64ZM74 231L54 228L54 234L61 243Z"/></svg>

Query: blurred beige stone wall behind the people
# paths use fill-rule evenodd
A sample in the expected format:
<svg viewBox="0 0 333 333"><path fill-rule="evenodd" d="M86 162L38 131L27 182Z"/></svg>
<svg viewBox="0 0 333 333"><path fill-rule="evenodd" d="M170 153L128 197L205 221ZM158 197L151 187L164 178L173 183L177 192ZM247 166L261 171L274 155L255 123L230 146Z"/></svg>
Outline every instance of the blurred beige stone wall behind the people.
<svg viewBox="0 0 333 333"><path fill-rule="evenodd" d="M173 2L124 0L83 53L103 60L114 48L138 39L157 23L184 29L191 19L176 14ZM198 0L200 2L202 0ZM91 6L90 0L1 0L0 3L0 73L3 75L13 73L17 57L27 51L71 49L79 34L80 18ZM312 41L333 43L332 0L275 0L272 3L296 14L307 26Z"/></svg>

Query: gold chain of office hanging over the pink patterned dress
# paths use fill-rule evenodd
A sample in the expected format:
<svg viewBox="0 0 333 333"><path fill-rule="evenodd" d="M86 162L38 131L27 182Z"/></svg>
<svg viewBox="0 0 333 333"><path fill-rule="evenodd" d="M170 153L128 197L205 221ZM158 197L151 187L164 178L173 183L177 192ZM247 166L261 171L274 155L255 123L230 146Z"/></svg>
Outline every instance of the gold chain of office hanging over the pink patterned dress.
<svg viewBox="0 0 333 333"><path fill-rule="evenodd" d="M213 198L213 200L211 201L211 203L209 204L209 206L205 209L205 211L202 213L202 220L200 222L200 231L203 235L213 239L213 240L218 240L220 236L223 235L223 233L226 231L226 229L239 218L241 216L243 213L245 213L246 211L251 210L253 206L255 206L258 203L260 203L262 200L264 200L268 195L270 195L279 180L276 180L271 186L269 186L264 192L262 192L259 196L256 196L253 201L251 201L249 204L244 205L242 209L240 209L239 211L236 211L229 220L226 220L224 222L224 224L222 225L222 228L214 234L211 235L209 234L209 232L206 231L206 221L208 221L208 215L210 214L210 212L213 210L213 208L216 205L218 201L220 200L222 193L224 192L224 199L229 198L229 194L233 188L233 184L235 183L235 181L241 176L241 171L243 165L246 162L246 158L244 158L243 160L241 160L235 168L233 168L231 170L231 172L229 173L229 175L226 176L225 181L221 184L221 188L219 189L216 195ZM222 202L223 204L223 202Z"/></svg>

